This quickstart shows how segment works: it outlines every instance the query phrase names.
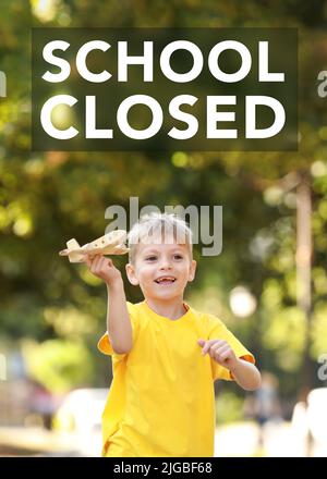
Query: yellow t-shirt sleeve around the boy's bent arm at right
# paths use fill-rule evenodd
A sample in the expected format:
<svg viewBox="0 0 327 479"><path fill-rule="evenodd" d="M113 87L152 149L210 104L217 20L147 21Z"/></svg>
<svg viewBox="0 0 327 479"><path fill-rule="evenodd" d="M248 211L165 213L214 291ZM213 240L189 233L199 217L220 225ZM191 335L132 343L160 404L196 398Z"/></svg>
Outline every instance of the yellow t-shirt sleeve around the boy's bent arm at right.
<svg viewBox="0 0 327 479"><path fill-rule="evenodd" d="M208 340L223 340L227 341L228 344L233 349L235 356L238 358L242 358L249 363L255 364L255 358L250 351L246 349L245 346L233 335L231 331L223 324L220 319L215 316L209 316L208 323ZM211 361L211 372L213 380L216 379L225 379L227 381L233 381L233 377L229 369L219 365L215 359L210 358Z"/></svg>

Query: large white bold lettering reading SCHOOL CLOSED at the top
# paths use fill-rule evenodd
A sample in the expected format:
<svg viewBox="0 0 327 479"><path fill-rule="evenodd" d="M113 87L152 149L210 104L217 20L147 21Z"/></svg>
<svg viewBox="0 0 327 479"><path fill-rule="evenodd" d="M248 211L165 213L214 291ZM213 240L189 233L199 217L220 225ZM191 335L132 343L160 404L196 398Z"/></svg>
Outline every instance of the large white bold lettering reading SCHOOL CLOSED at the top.
<svg viewBox="0 0 327 479"><path fill-rule="evenodd" d="M251 73L253 63L253 52L237 40L223 40L213 46L207 58L204 58L202 49L193 41L189 40L175 40L171 41L162 48L158 63L155 62L154 57L154 41L143 41L143 54L132 56L129 54L129 42L118 41L114 45L117 52L117 65L110 71L110 65L106 65L100 72L93 72L87 66L87 60L92 58L94 51L110 52L112 44L100 39L86 41L82 45L75 56L75 71L83 78L84 82L88 82L93 85L108 84L116 82L118 84L126 84L130 82L130 72L132 69L143 69L143 88L155 82L157 70L160 74L171 84L187 85L196 81L202 74L204 67L209 72L213 79L217 83L217 90L219 85L222 84L240 84ZM48 64L48 70L44 72L41 78L49 84L60 85L69 81L72 67L71 63L62 58L60 52L69 51L71 45L69 41L55 39L47 42L43 49L43 59ZM219 62L220 57L228 50L231 50L238 58L240 66L233 73L223 71ZM175 53L184 53L190 60L191 67L184 73L180 73L173 70L171 58ZM283 72L270 72L269 71L269 42L257 42L257 82L263 84L283 83ZM108 60L108 57L105 57ZM109 62L110 63L110 62ZM55 66L55 72L53 72ZM59 71L58 71L59 69ZM113 74L114 71L114 74ZM109 91L109 89L108 89ZM169 128L167 135L177 140L185 140L193 138L199 130L199 121L196 114L192 112L183 111L183 107L196 107L199 97L190 95L187 90L181 95L177 95L169 99L168 108L165 110L160 100L144 93L137 95L131 95L124 98L116 112L113 112L114 124L119 128L120 133L126 138L134 140L145 140L155 137L161 130L165 123L165 116L169 115L169 119L177 120L178 125ZM78 102L83 101L83 111L85 112L85 128L83 133L71 124L66 128L59 128L52 122L53 110L56 107L69 107L71 109ZM283 105L269 95L246 95L242 98L244 101L245 118L244 122L245 138L271 138L277 135L283 128L286 123L286 111ZM233 139L239 137L238 128L226 127L226 122L235 122L235 111L230 111L231 107L238 106L237 95L207 95L204 99L205 102L205 138L210 139ZM48 98L40 109L40 124L46 132L52 138L60 140L72 139L78 135L84 135L87 139L106 139L110 140L114 138L116 131L111 125L107 125L106 128L99 128L97 126L97 108L101 106L101 101L97 101L96 95L86 95L84 98L76 98L74 95L59 94ZM143 106L150 113L150 121L146 127L140 130L140 127L133 126L129 121L130 111L136 107ZM229 107L226 109L225 107ZM257 127L257 111L258 107L264 106L271 110L274 120L267 127ZM195 108L196 109L196 108ZM227 111L226 111L227 110ZM219 127L219 124L225 124L223 127ZM183 127L180 126L182 123Z"/></svg>

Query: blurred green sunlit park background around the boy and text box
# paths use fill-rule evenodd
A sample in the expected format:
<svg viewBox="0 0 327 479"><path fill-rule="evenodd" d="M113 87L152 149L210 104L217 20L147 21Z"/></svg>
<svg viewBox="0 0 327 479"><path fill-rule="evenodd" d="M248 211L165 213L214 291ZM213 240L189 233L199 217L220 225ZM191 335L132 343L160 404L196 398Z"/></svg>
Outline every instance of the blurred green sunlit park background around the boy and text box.
<svg viewBox="0 0 327 479"><path fill-rule="evenodd" d="M264 381L249 394L215 384L215 454L327 455L326 25L325 0L1 0L1 455L100 454L106 287L58 251L101 236L106 208L129 210L132 196L140 207L223 207L222 253L195 247L186 299L226 321ZM299 151L33 152L33 26L296 27Z"/></svg>

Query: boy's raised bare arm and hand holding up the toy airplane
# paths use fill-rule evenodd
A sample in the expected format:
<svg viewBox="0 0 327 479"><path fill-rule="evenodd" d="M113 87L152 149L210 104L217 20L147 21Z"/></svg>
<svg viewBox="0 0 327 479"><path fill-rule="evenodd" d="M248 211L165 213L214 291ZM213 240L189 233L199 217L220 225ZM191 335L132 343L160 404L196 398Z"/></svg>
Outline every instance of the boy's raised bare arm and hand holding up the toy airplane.
<svg viewBox="0 0 327 479"><path fill-rule="evenodd" d="M126 354L133 346L133 334L121 272L109 258L86 257L89 271L105 281L108 291L107 331L112 349Z"/></svg>

